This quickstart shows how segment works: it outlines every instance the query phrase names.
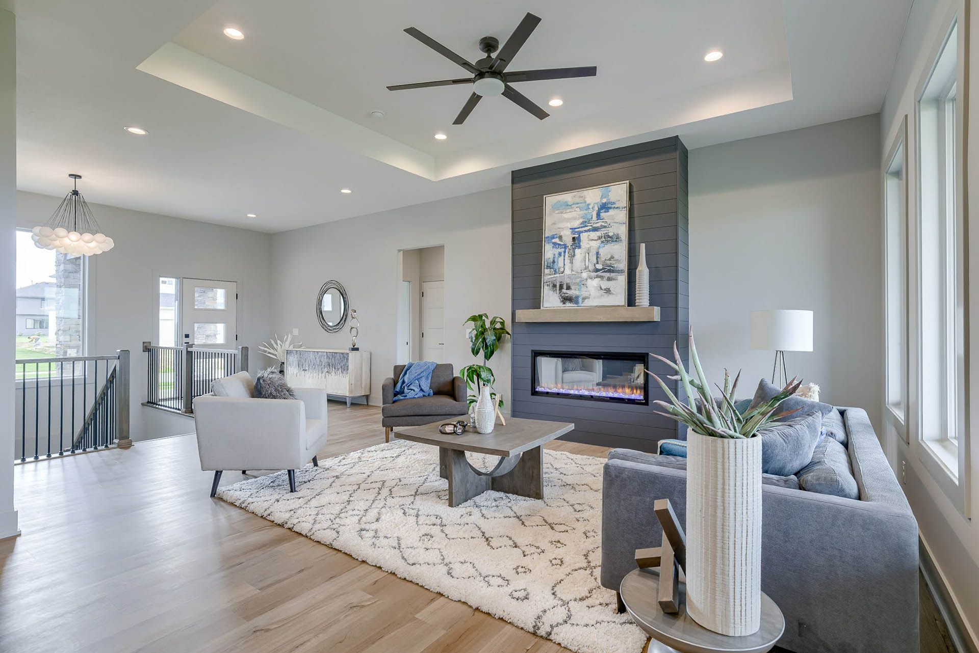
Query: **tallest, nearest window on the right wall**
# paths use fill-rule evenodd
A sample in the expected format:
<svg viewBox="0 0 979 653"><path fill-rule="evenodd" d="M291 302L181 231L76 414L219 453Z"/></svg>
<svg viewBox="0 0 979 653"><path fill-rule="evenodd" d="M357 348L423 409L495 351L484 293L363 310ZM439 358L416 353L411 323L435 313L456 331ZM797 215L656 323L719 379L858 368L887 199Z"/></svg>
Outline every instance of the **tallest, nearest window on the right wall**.
<svg viewBox="0 0 979 653"><path fill-rule="evenodd" d="M918 97L920 438L953 479L964 433L965 241L953 24Z"/></svg>

